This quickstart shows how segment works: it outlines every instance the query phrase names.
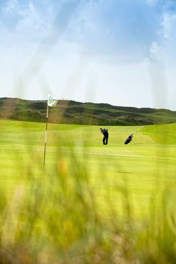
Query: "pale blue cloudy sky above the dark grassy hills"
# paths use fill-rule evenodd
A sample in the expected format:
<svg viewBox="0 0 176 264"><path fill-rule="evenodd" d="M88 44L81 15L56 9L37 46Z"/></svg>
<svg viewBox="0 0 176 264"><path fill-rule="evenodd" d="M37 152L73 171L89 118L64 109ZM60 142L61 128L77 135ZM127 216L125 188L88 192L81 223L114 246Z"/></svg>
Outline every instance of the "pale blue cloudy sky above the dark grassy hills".
<svg viewBox="0 0 176 264"><path fill-rule="evenodd" d="M0 97L176 111L176 0L1 0Z"/></svg>

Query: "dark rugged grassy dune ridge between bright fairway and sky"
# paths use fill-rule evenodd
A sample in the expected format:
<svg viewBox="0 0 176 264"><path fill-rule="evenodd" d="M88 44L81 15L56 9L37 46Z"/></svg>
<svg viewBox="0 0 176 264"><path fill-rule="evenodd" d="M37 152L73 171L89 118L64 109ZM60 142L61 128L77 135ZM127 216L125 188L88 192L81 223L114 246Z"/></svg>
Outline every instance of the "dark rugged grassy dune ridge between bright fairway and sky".
<svg viewBox="0 0 176 264"><path fill-rule="evenodd" d="M46 122L47 101L0 98L0 118ZM169 124L176 120L176 111L167 109L112 106L106 103L80 103L59 100L49 107L48 122L60 124L132 126Z"/></svg>

